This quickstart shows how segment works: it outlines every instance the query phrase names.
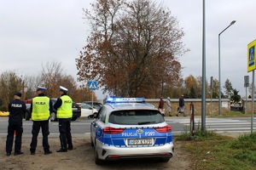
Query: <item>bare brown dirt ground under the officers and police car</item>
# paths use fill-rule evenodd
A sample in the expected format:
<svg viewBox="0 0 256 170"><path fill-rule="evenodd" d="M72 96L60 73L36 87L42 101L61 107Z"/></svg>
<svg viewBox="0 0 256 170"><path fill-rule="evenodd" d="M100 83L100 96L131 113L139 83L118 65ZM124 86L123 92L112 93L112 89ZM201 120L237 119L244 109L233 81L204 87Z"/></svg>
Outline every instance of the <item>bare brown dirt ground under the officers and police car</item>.
<svg viewBox="0 0 256 170"><path fill-rule="evenodd" d="M42 146L42 138L38 136L38 147L36 155L30 155L29 144L31 139L26 137L22 139L21 150L23 155L6 156L5 140L0 138L0 165L1 169L17 169L17 170L67 170L67 169L99 169L99 170L114 170L114 169L191 169L189 154L182 150L181 142L174 142L175 151L174 157L167 163L144 160L144 161L110 161L103 166L97 166L94 162L94 148L90 146L90 137L73 136L74 150L68 150L67 153L57 153L60 147L58 138L49 138L50 150L52 154L45 156Z"/></svg>

